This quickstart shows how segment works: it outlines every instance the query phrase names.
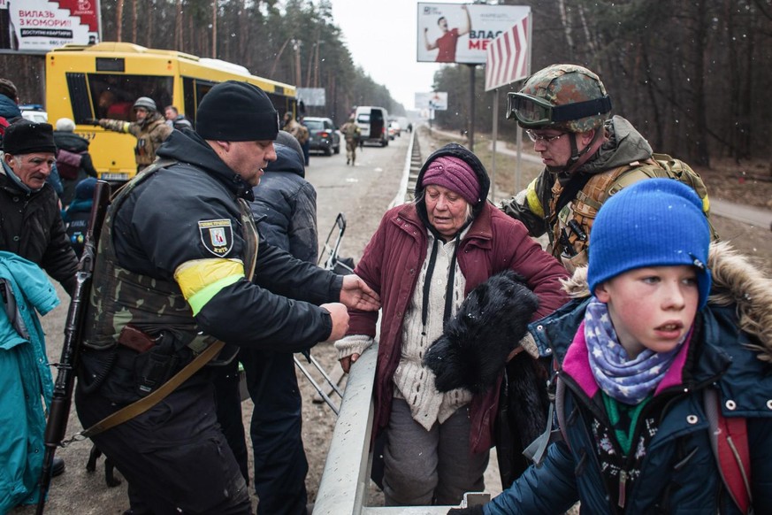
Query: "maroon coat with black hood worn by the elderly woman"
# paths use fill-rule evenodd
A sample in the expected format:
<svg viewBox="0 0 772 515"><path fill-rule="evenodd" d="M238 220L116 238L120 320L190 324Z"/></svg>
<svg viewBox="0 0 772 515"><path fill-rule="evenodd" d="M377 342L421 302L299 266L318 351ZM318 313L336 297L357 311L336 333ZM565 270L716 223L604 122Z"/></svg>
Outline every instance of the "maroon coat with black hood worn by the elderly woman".
<svg viewBox="0 0 772 515"><path fill-rule="evenodd" d="M539 311L534 319L546 316L561 306L566 300L560 288L565 270L554 258L542 252L520 222L508 218L485 200L490 181L478 158L461 145L453 145L438 150L426 163L439 155L454 156L470 163L480 182L480 198L483 200L473 206L474 220L457 250L458 265L466 279L464 295L469 295L472 288L494 273L510 269L520 273L528 287L539 296ZM425 171L424 164L417 184L421 184ZM418 187L416 196L420 197L421 192L422 188ZM421 265L427 254L429 236L425 220L423 202L404 204L386 211L355 269L355 273L378 292L382 303L374 392L375 431L386 427L391 412L394 371L401 357L403 318L412 292L417 288ZM349 310L349 314L348 334L375 336L377 312ZM498 396L499 388L491 388L485 395L472 399L472 452L487 451L493 443L493 419Z"/></svg>

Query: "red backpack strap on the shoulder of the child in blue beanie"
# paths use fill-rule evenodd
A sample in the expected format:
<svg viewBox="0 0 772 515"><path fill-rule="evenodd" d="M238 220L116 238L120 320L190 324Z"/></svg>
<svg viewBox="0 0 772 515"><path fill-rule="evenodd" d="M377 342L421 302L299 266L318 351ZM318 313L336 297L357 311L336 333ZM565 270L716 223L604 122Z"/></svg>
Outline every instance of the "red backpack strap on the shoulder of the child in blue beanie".
<svg viewBox="0 0 772 515"><path fill-rule="evenodd" d="M724 417L715 388L706 388L703 400L710 426L710 444L723 484L742 513L753 513L747 419Z"/></svg>

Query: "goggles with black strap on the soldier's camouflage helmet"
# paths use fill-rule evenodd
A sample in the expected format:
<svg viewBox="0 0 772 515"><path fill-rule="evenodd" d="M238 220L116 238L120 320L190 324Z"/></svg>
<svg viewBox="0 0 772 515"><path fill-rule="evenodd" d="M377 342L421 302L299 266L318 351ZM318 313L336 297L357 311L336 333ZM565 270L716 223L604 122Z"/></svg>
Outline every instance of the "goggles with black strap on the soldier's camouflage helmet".
<svg viewBox="0 0 772 515"><path fill-rule="evenodd" d="M523 127L544 127L608 111L611 111L608 95L565 105L553 105L544 98L526 93L509 93L507 96L507 119L516 118Z"/></svg>

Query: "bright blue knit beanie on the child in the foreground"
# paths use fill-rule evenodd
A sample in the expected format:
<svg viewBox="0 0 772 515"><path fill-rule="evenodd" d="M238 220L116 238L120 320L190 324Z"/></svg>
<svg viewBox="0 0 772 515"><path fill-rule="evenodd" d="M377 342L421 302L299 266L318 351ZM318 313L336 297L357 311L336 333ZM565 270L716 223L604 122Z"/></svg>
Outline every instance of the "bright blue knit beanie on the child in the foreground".
<svg viewBox="0 0 772 515"><path fill-rule="evenodd" d="M699 309L710 293L710 229L699 196L673 179L646 179L600 207L590 234L590 291L620 273L646 266L697 268Z"/></svg>

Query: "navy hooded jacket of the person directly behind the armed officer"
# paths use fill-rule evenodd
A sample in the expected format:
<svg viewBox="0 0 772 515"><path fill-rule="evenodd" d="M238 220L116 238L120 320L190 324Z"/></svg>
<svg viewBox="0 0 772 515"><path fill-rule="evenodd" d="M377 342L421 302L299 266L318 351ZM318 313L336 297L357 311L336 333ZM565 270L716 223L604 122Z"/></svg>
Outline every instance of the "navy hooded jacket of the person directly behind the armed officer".
<svg viewBox="0 0 772 515"><path fill-rule="evenodd" d="M258 230L279 249L295 258L317 262L317 191L304 179L305 168L298 153L276 143L276 161L272 161L252 188L250 203Z"/></svg>

